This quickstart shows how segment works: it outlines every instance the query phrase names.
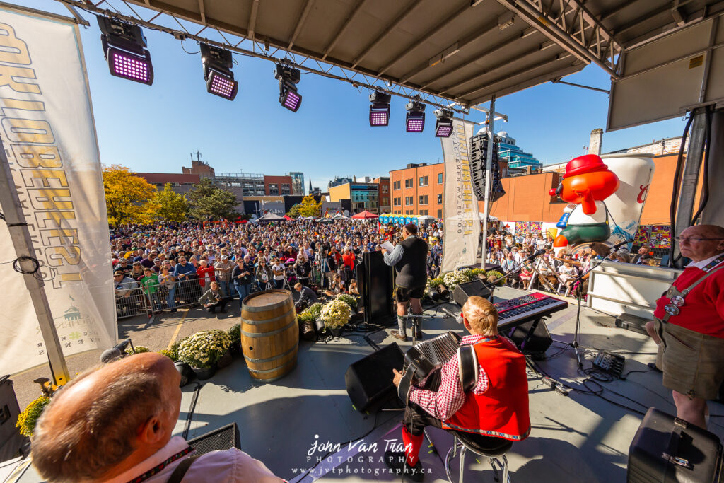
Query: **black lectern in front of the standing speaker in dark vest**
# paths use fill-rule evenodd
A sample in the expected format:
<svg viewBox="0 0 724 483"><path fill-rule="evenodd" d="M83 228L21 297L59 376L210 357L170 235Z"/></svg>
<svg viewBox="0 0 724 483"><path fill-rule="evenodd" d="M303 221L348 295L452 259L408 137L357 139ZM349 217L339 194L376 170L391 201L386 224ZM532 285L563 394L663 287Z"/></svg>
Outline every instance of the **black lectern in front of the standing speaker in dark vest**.
<svg viewBox="0 0 724 483"><path fill-rule="evenodd" d="M380 251L363 253L358 269L362 287L364 322L389 326L395 322L392 309L392 267L384 263Z"/></svg>

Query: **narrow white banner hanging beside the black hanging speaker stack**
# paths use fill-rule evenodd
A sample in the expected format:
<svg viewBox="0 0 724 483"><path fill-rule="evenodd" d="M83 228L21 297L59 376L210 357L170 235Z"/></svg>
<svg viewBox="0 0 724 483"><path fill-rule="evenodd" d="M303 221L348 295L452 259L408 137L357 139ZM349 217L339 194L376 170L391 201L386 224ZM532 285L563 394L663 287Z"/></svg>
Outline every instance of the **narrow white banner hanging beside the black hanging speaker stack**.
<svg viewBox="0 0 724 483"><path fill-rule="evenodd" d="M478 256L480 218L473 193L470 148L473 125L455 119L450 138L440 138L445 159L445 242L442 244L442 272L474 265Z"/></svg>

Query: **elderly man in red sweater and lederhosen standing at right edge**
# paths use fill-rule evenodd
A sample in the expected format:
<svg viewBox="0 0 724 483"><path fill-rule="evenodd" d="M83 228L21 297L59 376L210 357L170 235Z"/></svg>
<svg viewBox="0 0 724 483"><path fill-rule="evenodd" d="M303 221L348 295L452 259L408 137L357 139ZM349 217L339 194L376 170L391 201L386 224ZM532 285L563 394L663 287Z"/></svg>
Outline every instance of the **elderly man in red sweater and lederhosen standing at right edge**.
<svg viewBox="0 0 724 483"><path fill-rule="evenodd" d="M675 240L691 263L656 301L647 331L676 416L705 429L707 400L724 382L724 228L700 224Z"/></svg>

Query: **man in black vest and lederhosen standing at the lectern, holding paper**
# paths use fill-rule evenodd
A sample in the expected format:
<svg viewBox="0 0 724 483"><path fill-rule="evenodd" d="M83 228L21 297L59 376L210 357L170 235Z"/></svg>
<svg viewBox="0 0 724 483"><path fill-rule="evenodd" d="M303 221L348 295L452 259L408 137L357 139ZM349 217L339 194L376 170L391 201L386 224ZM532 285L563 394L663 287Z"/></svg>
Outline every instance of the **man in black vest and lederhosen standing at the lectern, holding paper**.
<svg viewBox="0 0 724 483"><path fill-rule="evenodd" d="M408 303L413 314L413 330L418 339L422 338L422 304L421 298L427 284L427 242L417 238L417 227L405 224L402 230L405 238L387 253L382 248L384 263L395 267L395 301L397 301L397 328L391 332L392 337L407 340L405 315Z"/></svg>

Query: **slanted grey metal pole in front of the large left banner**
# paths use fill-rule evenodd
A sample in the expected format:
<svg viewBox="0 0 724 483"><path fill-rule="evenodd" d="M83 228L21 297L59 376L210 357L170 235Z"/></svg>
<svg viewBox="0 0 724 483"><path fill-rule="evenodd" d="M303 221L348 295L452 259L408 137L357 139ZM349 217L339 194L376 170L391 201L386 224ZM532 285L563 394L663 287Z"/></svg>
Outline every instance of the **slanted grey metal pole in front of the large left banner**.
<svg viewBox="0 0 724 483"><path fill-rule="evenodd" d="M22 205L17 196L17 189L12 178L12 169L7 159L5 148L0 138L0 206L2 206L5 222L15 248L17 264L23 272L25 287L30 293L30 300L33 301L35 316L38 317L38 325L43 335L46 355L50 364L53 382L57 386L64 385L70 381L70 372L65 363L63 350L58 338L53 316L50 311L48 297L45 293L45 283L41 278L40 265L35 259L33 251L33 240L30 238L28 223L22 215Z"/></svg>

